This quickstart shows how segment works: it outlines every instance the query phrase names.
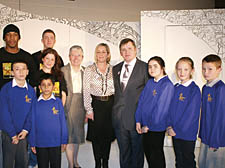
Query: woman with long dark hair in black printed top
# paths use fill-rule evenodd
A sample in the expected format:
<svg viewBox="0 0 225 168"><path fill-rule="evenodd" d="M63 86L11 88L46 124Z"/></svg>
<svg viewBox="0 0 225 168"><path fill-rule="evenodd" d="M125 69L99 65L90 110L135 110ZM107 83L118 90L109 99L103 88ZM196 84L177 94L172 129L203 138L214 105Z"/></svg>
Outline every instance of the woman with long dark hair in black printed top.
<svg viewBox="0 0 225 168"><path fill-rule="evenodd" d="M36 75L36 81L39 81L40 77L45 73L50 73L55 78L54 96L62 99L63 106L66 102L67 88L66 82L62 71L60 70L61 61L56 50L47 48L42 53L42 67ZM40 96L41 90L38 88L39 82L37 82L37 97Z"/></svg>

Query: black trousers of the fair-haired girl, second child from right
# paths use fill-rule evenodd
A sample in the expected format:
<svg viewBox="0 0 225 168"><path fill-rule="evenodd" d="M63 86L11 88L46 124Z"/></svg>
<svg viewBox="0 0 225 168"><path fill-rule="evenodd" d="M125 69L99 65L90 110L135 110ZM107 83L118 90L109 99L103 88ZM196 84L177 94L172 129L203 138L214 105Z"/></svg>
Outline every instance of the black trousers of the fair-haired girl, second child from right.
<svg viewBox="0 0 225 168"><path fill-rule="evenodd" d="M195 141L172 138L176 168L196 168Z"/></svg>

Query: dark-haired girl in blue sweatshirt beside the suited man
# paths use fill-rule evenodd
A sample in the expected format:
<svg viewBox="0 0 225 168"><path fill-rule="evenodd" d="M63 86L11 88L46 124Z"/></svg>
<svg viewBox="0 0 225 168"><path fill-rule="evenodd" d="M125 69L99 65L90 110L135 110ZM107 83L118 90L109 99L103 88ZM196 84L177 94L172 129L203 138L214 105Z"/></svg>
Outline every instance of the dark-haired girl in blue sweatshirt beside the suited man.
<svg viewBox="0 0 225 168"><path fill-rule="evenodd" d="M165 73L165 63L155 56L148 61L151 79L138 101L136 130L143 133L143 149L149 167L165 168L163 144L174 87Z"/></svg>

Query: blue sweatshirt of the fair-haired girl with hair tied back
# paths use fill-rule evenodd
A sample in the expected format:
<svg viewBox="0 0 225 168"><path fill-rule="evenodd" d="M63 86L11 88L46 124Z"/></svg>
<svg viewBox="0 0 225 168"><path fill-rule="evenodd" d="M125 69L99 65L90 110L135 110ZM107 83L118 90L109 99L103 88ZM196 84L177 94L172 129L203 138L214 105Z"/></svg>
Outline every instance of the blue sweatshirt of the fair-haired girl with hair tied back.
<svg viewBox="0 0 225 168"><path fill-rule="evenodd" d="M193 81L187 87L176 84L174 88L168 126L172 126L176 138L195 141L201 107L200 89Z"/></svg>

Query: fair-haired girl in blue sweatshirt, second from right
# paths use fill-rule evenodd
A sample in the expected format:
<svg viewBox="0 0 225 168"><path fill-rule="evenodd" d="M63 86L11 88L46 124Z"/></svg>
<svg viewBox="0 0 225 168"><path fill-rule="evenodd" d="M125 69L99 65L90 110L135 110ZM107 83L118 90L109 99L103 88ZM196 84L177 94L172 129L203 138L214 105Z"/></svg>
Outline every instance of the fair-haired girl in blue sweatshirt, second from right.
<svg viewBox="0 0 225 168"><path fill-rule="evenodd" d="M195 141L198 133L201 92L191 79L194 63L182 57L176 63L180 82L174 86L167 132L172 136L176 168L196 168Z"/></svg>

